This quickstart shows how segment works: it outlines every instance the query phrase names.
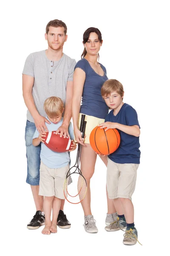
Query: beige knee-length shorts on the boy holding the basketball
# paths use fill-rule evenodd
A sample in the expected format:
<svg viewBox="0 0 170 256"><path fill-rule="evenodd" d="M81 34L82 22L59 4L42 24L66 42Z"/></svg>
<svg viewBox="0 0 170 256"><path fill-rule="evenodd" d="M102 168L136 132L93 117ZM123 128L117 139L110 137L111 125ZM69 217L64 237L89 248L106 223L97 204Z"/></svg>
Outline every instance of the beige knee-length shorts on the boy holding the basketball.
<svg viewBox="0 0 170 256"><path fill-rule="evenodd" d="M114 163L108 158L107 189L110 199L128 198L132 200L138 167L139 164L136 163Z"/></svg>

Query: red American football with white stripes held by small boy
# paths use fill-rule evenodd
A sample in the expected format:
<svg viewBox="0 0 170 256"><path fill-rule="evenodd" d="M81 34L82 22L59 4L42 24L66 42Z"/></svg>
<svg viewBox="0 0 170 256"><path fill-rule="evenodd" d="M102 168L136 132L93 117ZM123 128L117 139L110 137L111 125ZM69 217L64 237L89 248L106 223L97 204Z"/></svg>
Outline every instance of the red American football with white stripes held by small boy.
<svg viewBox="0 0 170 256"><path fill-rule="evenodd" d="M60 137L60 133L56 134L55 131L49 131L46 133L44 144L55 152L66 152L71 150L71 140L68 137L64 138L64 135Z"/></svg>

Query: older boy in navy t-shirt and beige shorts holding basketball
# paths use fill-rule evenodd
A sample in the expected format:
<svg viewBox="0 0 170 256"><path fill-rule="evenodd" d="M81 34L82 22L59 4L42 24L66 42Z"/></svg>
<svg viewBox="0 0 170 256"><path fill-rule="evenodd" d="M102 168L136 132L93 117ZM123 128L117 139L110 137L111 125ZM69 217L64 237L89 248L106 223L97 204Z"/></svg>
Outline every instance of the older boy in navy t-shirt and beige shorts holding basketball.
<svg viewBox="0 0 170 256"><path fill-rule="evenodd" d="M123 244L136 244L138 233L134 225L134 209L131 196L135 189L136 173L140 163L140 126L134 108L123 102L122 84L115 80L105 81L102 97L110 113L101 128L118 129L121 137L119 148L108 155L107 189L113 199L118 218L105 227L107 231L126 229Z"/></svg>

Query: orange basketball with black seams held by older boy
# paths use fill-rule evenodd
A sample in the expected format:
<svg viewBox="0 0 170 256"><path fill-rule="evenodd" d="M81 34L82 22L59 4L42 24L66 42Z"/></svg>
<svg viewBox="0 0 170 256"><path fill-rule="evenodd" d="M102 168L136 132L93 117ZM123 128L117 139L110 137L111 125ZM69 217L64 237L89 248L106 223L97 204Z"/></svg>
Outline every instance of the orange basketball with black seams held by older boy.
<svg viewBox="0 0 170 256"><path fill-rule="evenodd" d="M116 129L108 129L96 126L90 134L90 144L98 154L108 155L113 153L120 144L120 135Z"/></svg>

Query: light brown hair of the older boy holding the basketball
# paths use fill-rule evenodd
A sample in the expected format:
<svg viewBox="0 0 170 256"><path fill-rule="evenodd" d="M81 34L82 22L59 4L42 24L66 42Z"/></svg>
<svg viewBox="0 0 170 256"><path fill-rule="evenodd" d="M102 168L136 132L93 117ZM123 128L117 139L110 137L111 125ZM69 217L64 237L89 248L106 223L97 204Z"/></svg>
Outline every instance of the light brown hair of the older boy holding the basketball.
<svg viewBox="0 0 170 256"><path fill-rule="evenodd" d="M116 91L121 97L124 95L123 85L116 79L109 79L104 82L101 88L102 97Z"/></svg>

